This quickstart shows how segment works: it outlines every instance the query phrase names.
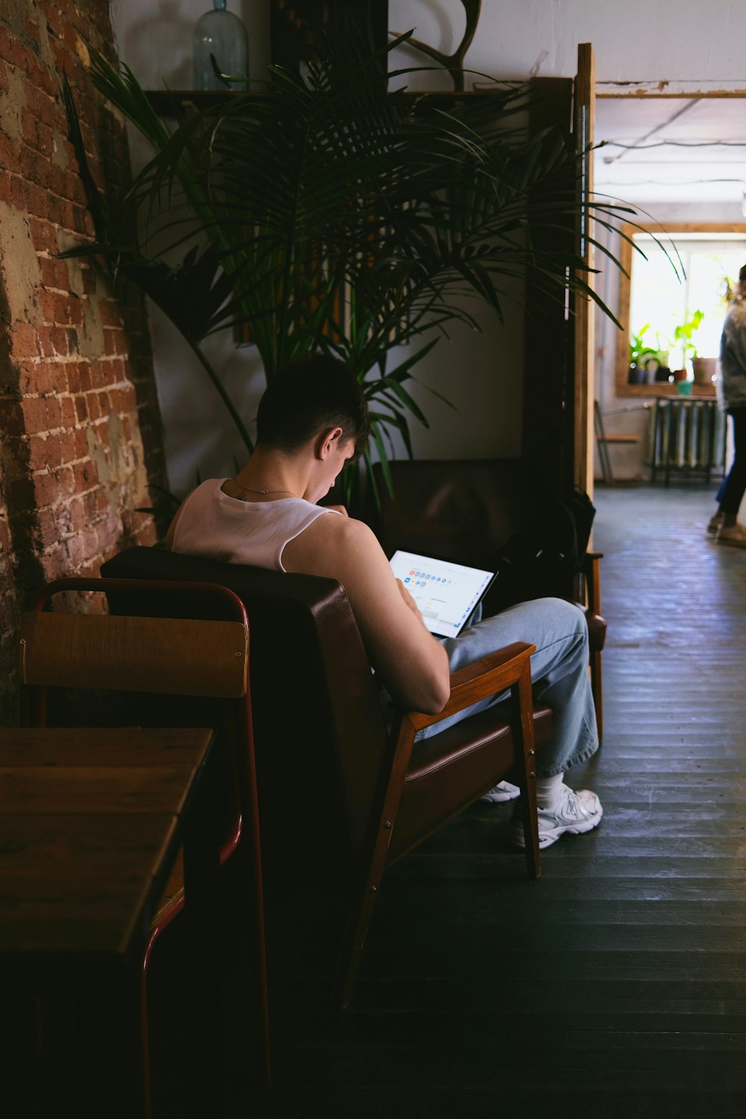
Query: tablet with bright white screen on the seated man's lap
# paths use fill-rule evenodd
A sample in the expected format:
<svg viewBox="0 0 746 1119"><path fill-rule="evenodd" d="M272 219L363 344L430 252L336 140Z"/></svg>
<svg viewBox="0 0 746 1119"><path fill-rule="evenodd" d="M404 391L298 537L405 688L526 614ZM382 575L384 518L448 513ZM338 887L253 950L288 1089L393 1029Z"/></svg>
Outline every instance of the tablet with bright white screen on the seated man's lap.
<svg viewBox="0 0 746 1119"><path fill-rule="evenodd" d="M457 637L495 576L493 571L465 567L416 552L397 551L389 563L435 637Z"/></svg>

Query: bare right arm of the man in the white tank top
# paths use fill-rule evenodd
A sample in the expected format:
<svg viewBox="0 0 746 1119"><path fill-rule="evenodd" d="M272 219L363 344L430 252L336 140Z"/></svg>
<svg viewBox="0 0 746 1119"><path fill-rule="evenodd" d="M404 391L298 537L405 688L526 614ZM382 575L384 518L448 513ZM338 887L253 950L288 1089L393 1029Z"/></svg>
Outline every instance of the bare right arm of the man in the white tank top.
<svg viewBox="0 0 746 1119"><path fill-rule="evenodd" d="M333 521L333 523L332 523ZM336 579L347 591L374 668L403 707L435 715L451 694L448 658L360 520L319 517L283 552L287 571Z"/></svg>

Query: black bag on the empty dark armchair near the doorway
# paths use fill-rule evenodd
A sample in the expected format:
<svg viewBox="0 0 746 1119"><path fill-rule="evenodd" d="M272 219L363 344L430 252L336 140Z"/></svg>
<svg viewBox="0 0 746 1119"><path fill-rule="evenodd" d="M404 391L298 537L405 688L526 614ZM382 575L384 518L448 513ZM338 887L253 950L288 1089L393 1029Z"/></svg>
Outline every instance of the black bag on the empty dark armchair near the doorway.
<svg viewBox="0 0 746 1119"><path fill-rule="evenodd" d="M580 489L537 504L531 526L511 536L498 554L490 610L546 596L567 599L580 571L596 510Z"/></svg>

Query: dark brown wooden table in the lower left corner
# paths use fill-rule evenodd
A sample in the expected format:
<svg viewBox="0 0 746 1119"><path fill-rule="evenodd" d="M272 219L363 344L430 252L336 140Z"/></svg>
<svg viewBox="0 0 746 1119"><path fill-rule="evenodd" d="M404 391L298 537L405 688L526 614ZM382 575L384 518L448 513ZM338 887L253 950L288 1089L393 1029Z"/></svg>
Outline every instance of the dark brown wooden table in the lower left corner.
<svg viewBox="0 0 746 1119"><path fill-rule="evenodd" d="M201 778L211 740L209 730L0 730L0 988L75 993L76 1115L148 1113L140 975L182 840L190 1018L197 1034L210 1018L217 1032L199 967L215 949L217 844ZM215 1073L214 1053L204 1056L202 1085Z"/></svg>

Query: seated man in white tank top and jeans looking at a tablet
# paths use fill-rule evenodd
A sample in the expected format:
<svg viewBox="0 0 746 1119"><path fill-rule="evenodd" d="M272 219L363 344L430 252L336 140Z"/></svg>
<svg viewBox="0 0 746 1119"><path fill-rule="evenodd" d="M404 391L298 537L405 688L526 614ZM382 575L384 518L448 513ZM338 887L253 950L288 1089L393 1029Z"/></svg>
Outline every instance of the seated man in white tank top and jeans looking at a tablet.
<svg viewBox="0 0 746 1119"><path fill-rule="evenodd" d="M583 613L560 599L520 603L483 620L478 608L459 637L434 638L371 529L341 506L318 505L368 436L365 396L341 361L317 355L289 366L262 397L256 449L246 466L235 478L202 482L186 498L167 546L337 580L384 681L385 709L393 699L406 709L437 714L450 695L451 673L513 641L536 645L536 697L553 708L551 737L537 759L540 846L566 831L591 830L603 815L598 798L588 790L575 792L563 780L565 770L598 745ZM440 733L501 698L475 704L421 736ZM518 791L501 782L485 799L512 799ZM522 846L518 819L511 836Z"/></svg>

